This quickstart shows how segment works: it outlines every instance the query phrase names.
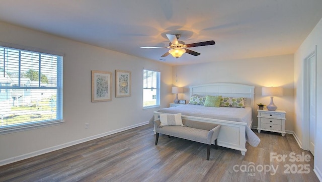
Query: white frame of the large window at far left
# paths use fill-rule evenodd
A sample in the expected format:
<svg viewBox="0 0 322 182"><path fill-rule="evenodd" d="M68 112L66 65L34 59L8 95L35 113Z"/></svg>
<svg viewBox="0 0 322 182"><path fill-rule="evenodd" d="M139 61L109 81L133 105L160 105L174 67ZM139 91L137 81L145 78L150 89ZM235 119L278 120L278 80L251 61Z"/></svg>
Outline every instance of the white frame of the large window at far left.
<svg viewBox="0 0 322 182"><path fill-rule="evenodd" d="M29 129L33 129L33 128L41 128L41 127L45 127L45 126L52 126L52 125L57 125L60 124L62 122L64 122L63 120L63 54L60 53L52 53L50 51L44 51L44 50L35 50L35 48L26 48L23 46L19 46L19 45L12 45L12 44L4 44L0 42L0 47L2 49L4 49L4 51L6 49L9 50L15 50L15 51L19 51L19 52L28 52L28 53L33 53L33 54L38 54L40 56L40 61L38 63L39 67L41 65L41 56L53 56L57 58L56 61L56 72L55 76L57 76L56 78L56 85L55 86L44 86L41 85L41 81L40 81L40 77L41 77L41 69L39 71L39 84L38 86L26 86L26 85L19 85L20 81L21 81L21 77L18 78L19 80L19 84L17 85L6 85L6 86L2 86L0 85L0 89L6 89L7 92L10 92L9 90L14 90L14 89L21 89L21 90L29 90L29 89L33 89L33 90L41 90L41 89L55 89L56 90L56 118L54 119L44 119L44 120L40 120L40 121L34 121L34 122L27 122L27 123L19 123L19 124L14 124L14 125L7 125L7 126L0 126L0 135L1 134L7 134L7 133L12 133L12 132L18 132L18 131L24 131L24 130L29 130ZM4 52L5 54L5 52ZM21 53L19 53L21 54ZM19 60L19 65L18 65L18 71L17 73L20 75L22 74L21 71L21 58L18 58ZM44 58L45 59L45 58ZM4 57L5 60L5 57ZM4 65L5 66L5 62ZM2 65L1 65L2 66ZM6 69L4 68L3 70L4 74L6 74ZM1 120L2 118L0 118Z"/></svg>

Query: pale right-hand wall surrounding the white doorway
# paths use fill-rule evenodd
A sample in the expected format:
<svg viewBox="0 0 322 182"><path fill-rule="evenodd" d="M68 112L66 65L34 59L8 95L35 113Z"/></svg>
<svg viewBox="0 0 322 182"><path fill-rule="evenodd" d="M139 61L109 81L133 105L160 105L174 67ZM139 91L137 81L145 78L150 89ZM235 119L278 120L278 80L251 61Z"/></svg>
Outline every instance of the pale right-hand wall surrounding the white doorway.
<svg viewBox="0 0 322 182"><path fill-rule="evenodd" d="M303 60L310 53L315 50L316 53L316 128L315 128L315 156L314 156L314 171L322 180L322 113L320 108L322 107L322 19L315 26L312 32L308 35L302 45L298 48L294 54L294 81L295 81L295 127L294 132L297 135L300 142L303 141L303 135L307 131L303 131L302 128L306 124L303 121Z"/></svg>

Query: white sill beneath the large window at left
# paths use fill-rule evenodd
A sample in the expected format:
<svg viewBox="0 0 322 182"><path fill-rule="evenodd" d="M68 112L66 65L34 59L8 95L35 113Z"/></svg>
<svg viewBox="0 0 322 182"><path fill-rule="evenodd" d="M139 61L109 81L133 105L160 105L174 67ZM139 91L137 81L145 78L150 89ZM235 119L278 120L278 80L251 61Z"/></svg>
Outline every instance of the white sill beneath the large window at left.
<svg viewBox="0 0 322 182"><path fill-rule="evenodd" d="M34 124L26 124L26 125L20 125L20 126L12 126L12 127L7 127L7 128L0 128L0 135L20 132L20 131L26 131L26 130L32 130L32 129L37 129L37 128L55 126L55 125L59 125L63 122L65 122L65 121L64 120L56 120L56 121L51 121L51 122L34 123Z"/></svg>

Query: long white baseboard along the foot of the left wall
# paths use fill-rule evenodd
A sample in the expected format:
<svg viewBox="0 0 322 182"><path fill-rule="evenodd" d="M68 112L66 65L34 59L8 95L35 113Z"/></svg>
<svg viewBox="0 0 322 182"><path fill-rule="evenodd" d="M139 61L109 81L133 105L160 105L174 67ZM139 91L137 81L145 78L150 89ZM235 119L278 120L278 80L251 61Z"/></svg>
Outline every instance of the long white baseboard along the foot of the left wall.
<svg viewBox="0 0 322 182"><path fill-rule="evenodd" d="M139 126L142 126L142 125L146 125L146 124L149 124L149 121L139 123L139 124L135 124L135 125L128 126L128 127L124 127L124 128L120 128L120 129L117 129L117 130L109 131L109 132L106 132L106 133L101 133L101 134L98 134L98 135L90 136L90 137L87 137L87 138L67 142L67 143L64 143L64 144L61 144L61 145L57 145L57 146L53 146L53 147L49 147L49 148L44 148L44 149L41 149L41 150L38 150L38 151L26 153L26 154L19 155L19 156L16 156L16 157L11 157L11 158L8 158L8 159L4 159L4 160L0 161L0 166L10 164L10 163L13 163L13 162L17 162L17 161L20 161L20 160L24 160L24 159L27 159L27 158L35 157L37 155L42 155L42 154L52 152L52 151L55 151L55 150L59 150L59 149L62 149L62 148L70 147L72 145L76 145L76 144L79 144L79 143L84 143L84 142L94 140L94 139L97 139L97 138L112 135L114 133L122 132L122 131L129 130L129 129L132 129L132 128L136 128L136 127L139 127Z"/></svg>

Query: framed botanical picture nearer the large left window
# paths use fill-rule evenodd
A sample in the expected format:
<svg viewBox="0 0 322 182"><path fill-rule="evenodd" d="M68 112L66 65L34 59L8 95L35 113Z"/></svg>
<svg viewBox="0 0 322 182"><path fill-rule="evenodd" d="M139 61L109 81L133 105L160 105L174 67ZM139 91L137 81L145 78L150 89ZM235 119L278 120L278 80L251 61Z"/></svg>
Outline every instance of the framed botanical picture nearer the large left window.
<svg viewBox="0 0 322 182"><path fill-rule="evenodd" d="M92 70L92 102L112 101L112 73Z"/></svg>

